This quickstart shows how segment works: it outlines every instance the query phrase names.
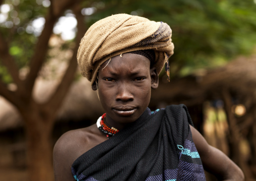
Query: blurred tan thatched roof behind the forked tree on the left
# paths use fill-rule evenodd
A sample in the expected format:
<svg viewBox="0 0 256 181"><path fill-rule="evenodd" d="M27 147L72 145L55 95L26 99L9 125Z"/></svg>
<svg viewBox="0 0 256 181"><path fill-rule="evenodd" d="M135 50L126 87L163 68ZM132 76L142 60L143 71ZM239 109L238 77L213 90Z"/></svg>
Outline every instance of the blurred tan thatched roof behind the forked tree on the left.
<svg viewBox="0 0 256 181"><path fill-rule="evenodd" d="M38 102L48 99L56 81L38 79L33 95ZM91 83L85 78L75 81L70 88L67 97L61 106L57 120L79 120L82 118L94 118L100 115L103 109L97 97L96 91L91 88ZM14 129L23 125L22 118L17 109L5 98L0 96L0 132Z"/></svg>

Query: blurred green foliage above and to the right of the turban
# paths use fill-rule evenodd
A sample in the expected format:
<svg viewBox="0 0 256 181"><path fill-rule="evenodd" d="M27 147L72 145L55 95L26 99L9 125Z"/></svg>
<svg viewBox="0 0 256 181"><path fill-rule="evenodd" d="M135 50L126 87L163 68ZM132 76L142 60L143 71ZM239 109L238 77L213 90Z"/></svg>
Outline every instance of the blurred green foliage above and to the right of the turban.
<svg viewBox="0 0 256 181"><path fill-rule="evenodd" d="M108 10L111 14L134 14L170 25L174 74L223 65L237 55L250 53L255 46L256 5L252 1L125 0L115 4Z"/></svg>

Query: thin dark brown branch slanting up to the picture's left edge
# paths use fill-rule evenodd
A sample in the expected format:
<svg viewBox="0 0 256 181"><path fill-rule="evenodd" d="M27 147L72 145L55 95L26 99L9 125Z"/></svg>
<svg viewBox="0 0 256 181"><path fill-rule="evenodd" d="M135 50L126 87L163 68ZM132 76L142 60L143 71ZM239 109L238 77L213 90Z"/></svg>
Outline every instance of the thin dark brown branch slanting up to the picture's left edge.
<svg viewBox="0 0 256 181"><path fill-rule="evenodd" d="M19 86L21 80L19 78L19 69L13 59L13 57L9 53L9 46L7 41L5 41L2 34L0 34L0 61L3 63L4 66L7 67L8 72L13 78L13 81Z"/></svg>

